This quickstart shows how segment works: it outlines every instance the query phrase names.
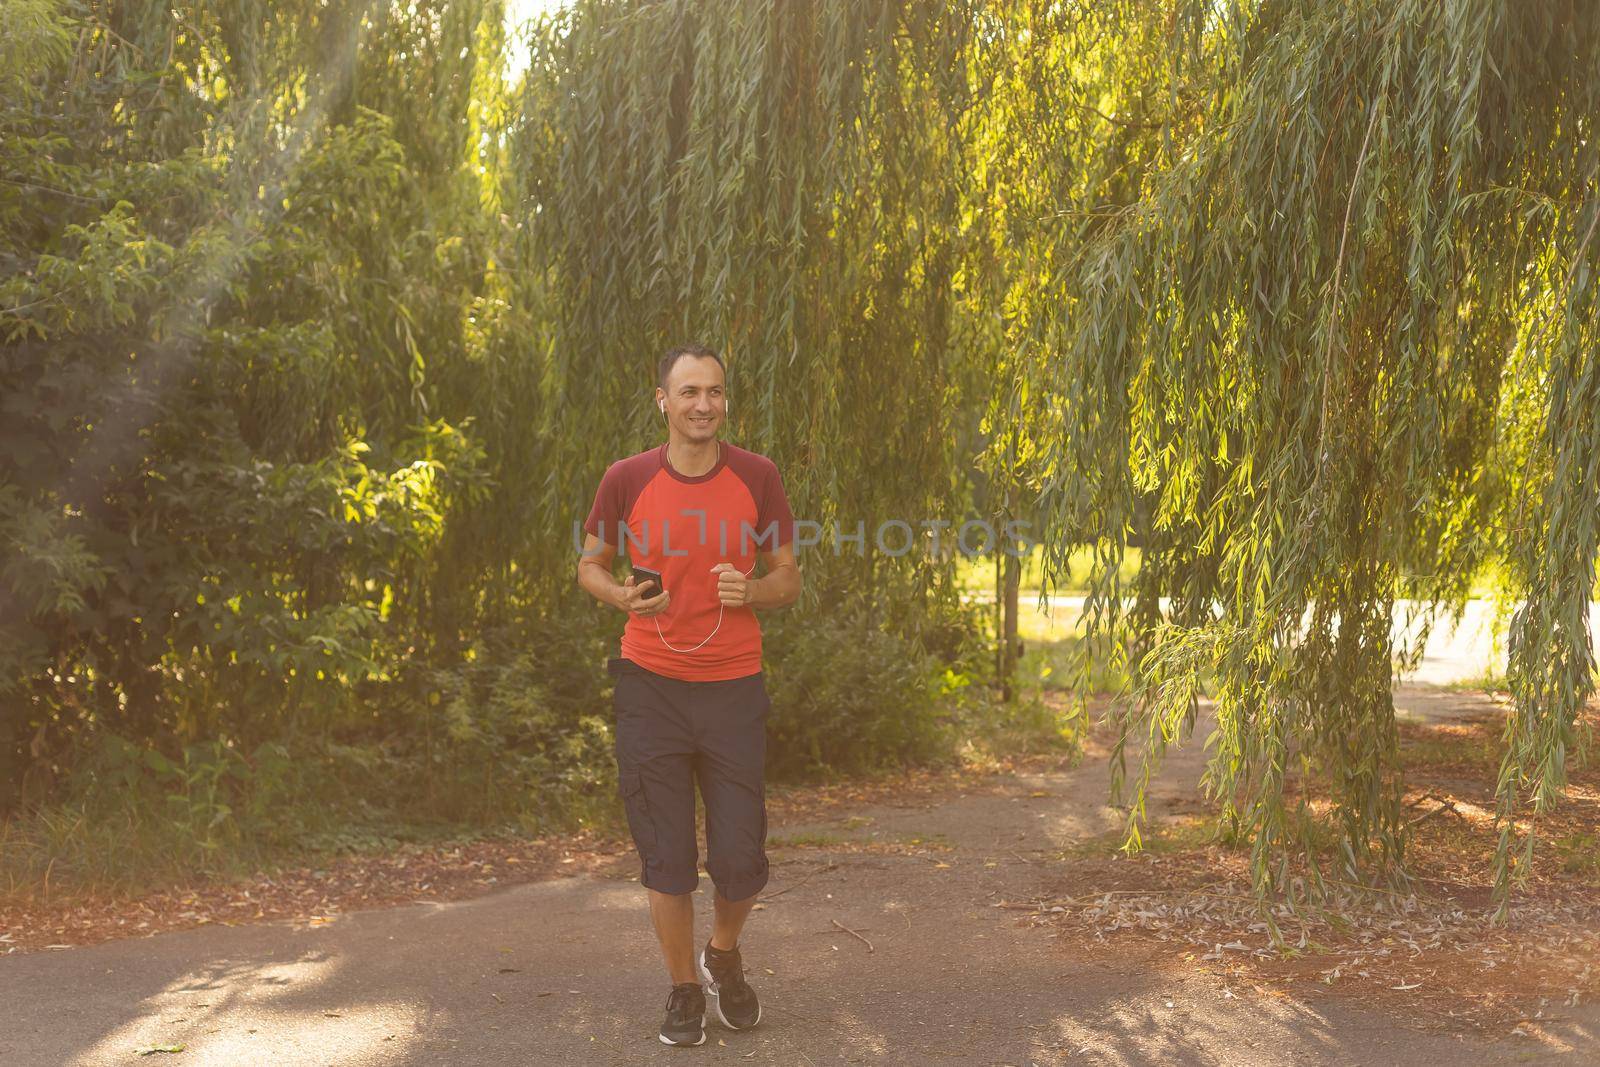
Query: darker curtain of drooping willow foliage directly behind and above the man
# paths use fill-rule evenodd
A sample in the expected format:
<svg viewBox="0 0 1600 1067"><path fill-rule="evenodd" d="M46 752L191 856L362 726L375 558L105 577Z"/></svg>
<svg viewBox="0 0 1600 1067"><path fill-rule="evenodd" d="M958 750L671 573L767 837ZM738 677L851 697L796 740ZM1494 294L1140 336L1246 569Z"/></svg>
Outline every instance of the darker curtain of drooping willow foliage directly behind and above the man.
<svg viewBox="0 0 1600 1067"><path fill-rule="evenodd" d="M909 565L851 590L878 522L950 518L987 390L949 310L971 32L958 6L845 0L584 2L534 30L506 203L533 267L514 299L550 309L539 510L565 522L531 531L536 573L565 576L605 464L661 438L658 354L701 338L731 438L778 458L797 515L866 523L866 555L805 558L808 593L954 597Z"/></svg>

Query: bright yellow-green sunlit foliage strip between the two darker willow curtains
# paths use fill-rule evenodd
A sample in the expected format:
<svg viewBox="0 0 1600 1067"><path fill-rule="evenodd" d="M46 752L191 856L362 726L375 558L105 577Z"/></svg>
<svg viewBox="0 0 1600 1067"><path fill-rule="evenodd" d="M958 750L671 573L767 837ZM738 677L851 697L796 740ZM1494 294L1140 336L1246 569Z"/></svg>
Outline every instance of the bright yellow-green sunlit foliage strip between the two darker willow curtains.
<svg viewBox="0 0 1600 1067"><path fill-rule="evenodd" d="M1139 6L986 5L971 67L982 91L970 126L973 178L965 195L978 240L968 246L957 307L958 326L973 336L970 349L990 379L978 466L997 518L1024 518L1032 536L1058 542L1062 557L1069 545L1094 541L1106 520L1083 514L1064 525L1038 507L1040 490L1069 462L1069 443L1048 427L1051 411L1040 405L1056 403L1075 382L1040 390L1027 368L1054 344L1050 330L1059 325L1077 256L1117 210L1139 200L1162 165L1162 115L1173 109L1152 72L1165 62L1170 26L1139 21ZM1042 605L1050 584L1064 577L1064 569L1045 574ZM997 600L1003 595L1013 614L1018 576L998 579ZM1082 646L1072 689L1080 718L1091 691L1091 646L1094 656L1126 656L1098 637Z"/></svg>

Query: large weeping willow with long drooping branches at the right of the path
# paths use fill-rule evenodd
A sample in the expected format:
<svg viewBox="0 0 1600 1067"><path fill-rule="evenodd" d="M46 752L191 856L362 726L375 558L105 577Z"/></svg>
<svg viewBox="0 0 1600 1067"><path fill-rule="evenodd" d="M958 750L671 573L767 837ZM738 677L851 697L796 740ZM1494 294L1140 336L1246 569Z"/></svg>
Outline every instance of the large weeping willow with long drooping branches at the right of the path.
<svg viewBox="0 0 1600 1067"><path fill-rule="evenodd" d="M1072 190L1032 238L1054 285L1014 366L1042 506L1096 544L1090 629L1134 657L1123 736L1149 736L1147 773L1210 686L1205 782L1258 886L1403 880L1390 681L1416 648L1390 637L1397 598L1430 621L1498 563L1523 600L1504 893L1533 845L1512 851L1518 814L1562 793L1594 685L1600 10L1106 18L1147 64L1088 102L1144 130L1152 166L1131 195L1110 178ZM1051 576L1067 547L1048 545ZM1331 806L1290 798L1296 781Z"/></svg>

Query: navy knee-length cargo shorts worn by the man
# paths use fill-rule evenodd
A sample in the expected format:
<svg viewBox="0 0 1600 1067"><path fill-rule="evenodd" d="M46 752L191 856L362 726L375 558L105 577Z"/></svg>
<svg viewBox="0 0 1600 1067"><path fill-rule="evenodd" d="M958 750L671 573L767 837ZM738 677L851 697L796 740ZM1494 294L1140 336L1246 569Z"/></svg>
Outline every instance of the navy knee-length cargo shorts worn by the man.
<svg viewBox="0 0 1600 1067"><path fill-rule="evenodd" d="M694 782L706 805L706 872L728 901L766 886L766 680L683 681L613 657L618 789L658 893L699 886Z"/></svg>

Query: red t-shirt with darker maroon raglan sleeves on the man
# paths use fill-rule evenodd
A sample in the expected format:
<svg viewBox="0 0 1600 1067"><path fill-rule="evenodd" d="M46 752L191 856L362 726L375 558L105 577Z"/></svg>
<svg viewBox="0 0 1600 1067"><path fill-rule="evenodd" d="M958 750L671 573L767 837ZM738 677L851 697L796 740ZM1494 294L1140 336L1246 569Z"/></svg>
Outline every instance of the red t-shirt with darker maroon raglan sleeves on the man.
<svg viewBox="0 0 1600 1067"><path fill-rule="evenodd" d="M619 550L626 542L634 563L661 571L672 593L661 614L629 613L622 657L685 681L762 670L762 624L749 606L723 609L710 568L726 561L752 571L758 552L794 541L794 515L773 461L726 442L720 446L717 466L694 478L667 464L666 445L616 461L584 520L586 531Z"/></svg>

